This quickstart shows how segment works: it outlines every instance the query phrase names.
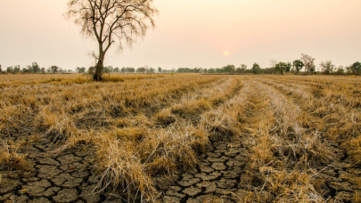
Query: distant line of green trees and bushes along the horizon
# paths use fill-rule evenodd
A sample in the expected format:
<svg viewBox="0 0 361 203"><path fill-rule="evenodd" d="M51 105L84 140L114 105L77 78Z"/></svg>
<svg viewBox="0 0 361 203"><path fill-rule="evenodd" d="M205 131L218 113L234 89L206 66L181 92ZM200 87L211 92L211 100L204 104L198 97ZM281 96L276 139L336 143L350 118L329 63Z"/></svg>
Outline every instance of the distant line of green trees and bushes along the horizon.
<svg viewBox="0 0 361 203"><path fill-rule="evenodd" d="M148 67L133 68L133 67L116 67L112 66L103 67L103 73L209 73L209 74L324 74L324 75L360 75L361 74L361 62L356 61L349 66L339 66L336 67L332 61L321 61L319 64L319 71L316 71L315 58L307 55L301 54L300 59L295 61L276 61L270 60L270 68L262 69L258 63L253 63L250 69L247 69L247 65L241 64L240 67L235 67L234 65L227 65L222 68L210 68L203 69L200 67L196 68L178 68L178 69L162 69L158 67L157 69ZM10 66L6 69L2 69L0 65L0 73L89 73L94 74L95 68L90 67L86 69L85 67L77 67L75 71L71 69L62 69L58 66L51 66L47 69L40 68L37 62L33 62L31 65L28 65L26 68L21 68L20 65Z"/></svg>

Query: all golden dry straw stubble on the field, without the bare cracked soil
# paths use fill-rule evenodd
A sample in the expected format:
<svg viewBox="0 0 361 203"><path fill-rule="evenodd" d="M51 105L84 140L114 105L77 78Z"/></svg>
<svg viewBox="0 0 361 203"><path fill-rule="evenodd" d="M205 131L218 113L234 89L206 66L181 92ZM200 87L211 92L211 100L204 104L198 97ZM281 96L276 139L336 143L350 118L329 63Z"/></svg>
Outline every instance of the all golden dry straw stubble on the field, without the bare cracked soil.
<svg viewBox="0 0 361 203"><path fill-rule="evenodd" d="M219 134L241 137L249 150L241 179L248 195L240 202L337 202L341 195L324 197L320 179L339 156L334 146L361 166L358 77L118 74L93 83L77 74L9 76L0 85L0 132L31 119L65 147L92 143L98 190L126 192L129 200L155 201L152 176L196 166ZM8 143L1 153L4 166L25 165ZM361 180L348 172L340 178L355 185L357 201Z"/></svg>

